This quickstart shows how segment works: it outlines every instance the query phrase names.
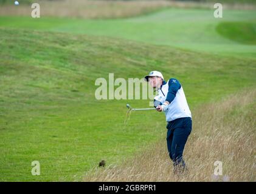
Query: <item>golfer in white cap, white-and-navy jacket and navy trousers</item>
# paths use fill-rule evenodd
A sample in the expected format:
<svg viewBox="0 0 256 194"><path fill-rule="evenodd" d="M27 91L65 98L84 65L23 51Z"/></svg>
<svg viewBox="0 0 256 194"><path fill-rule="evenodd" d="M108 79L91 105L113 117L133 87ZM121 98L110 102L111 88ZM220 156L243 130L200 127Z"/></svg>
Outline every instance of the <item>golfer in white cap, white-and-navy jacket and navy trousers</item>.
<svg viewBox="0 0 256 194"><path fill-rule="evenodd" d="M182 173L185 167L182 153L192 130L192 115L181 84L175 78L164 81L161 72L153 71L145 76L158 95L154 97L154 107L164 112L167 121L167 148L173 161L174 173Z"/></svg>

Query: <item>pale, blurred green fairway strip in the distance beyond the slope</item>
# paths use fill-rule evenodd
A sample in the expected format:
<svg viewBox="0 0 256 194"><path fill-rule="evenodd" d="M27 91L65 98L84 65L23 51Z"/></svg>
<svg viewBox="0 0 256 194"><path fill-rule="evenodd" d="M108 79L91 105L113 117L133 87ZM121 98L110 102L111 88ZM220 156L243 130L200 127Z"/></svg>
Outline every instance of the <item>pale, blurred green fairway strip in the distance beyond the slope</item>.
<svg viewBox="0 0 256 194"><path fill-rule="evenodd" d="M223 22L231 22L231 25L225 25L226 23L223 24ZM250 22L255 25L255 11L224 10L221 19L213 17L213 10L181 8L171 8L152 15L130 19L83 20L0 17L0 26L2 27L111 36L157 45L171 45L199 52L255 58L255 44L240 44L241 42L227 38L225 34L218 33L220 30L216 30L218 26L223 24L223 30L232 32L237 22L240 22L242 26L243 22ZM247 36L247 32L242 31L239 34L241 38Z"/></svg>

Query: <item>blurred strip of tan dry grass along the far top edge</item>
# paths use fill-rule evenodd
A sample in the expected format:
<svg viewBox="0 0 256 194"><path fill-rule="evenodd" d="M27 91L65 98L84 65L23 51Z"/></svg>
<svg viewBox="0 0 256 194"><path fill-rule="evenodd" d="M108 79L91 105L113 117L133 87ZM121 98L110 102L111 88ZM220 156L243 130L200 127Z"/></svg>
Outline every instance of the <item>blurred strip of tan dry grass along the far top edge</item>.
<svg viewBox="0 0 256 194"><path fill-rule="evenodd" d="M88 1L88 0L60 0L60 1L36 1L40 4L41 16L55 16L67 18L105 19L127 18L131 16L151 13L165 7L179 8L212 8L213 2L193 1L166 1L166 0L139 0L139 1ZM224 8L255 10L254 4L224 4ZM0 15L30 16L30 4L18 6L6 4L0 5Z"/></svg>

